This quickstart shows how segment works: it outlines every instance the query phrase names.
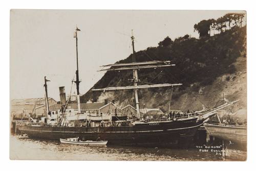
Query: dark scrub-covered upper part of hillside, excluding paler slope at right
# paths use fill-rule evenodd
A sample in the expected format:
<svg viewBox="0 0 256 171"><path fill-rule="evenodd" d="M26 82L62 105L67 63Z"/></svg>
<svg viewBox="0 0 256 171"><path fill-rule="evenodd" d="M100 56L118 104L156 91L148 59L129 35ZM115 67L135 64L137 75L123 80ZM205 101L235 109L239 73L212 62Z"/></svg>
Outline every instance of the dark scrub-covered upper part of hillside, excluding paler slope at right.
<svg viewBox="0 0 256 171"><path fill-rule="evenodd" d="M138 71L141 80L139 85L182 83L182 86L174 88L172 95L172 101L178 101L188 88L192 93L198 92L201 87L211 85L218 77L236 72L234 62L238 57L246 58L246 27L232 28L215 36L201 39L184 36L168 44L159 44L158 47L148 47L144 51L137 52L136 60L139 62L170 60L176 66L140 69ZM129 63L131 58L130 55L117 63ZM92 88L132 85L128 80L131 78L130 70L108 71ZM110 100L120 101L120 94L125 96L123 94L127 95L127 92L116 91L110 94L108 97ZM162 107L166 110L170 88L141 90L141 94L148 108ZM81 101L96 102L99 101L100 95L102 96L102 92L89 90L81 96ZM153 98L158 100L152 100Z"/></svg>

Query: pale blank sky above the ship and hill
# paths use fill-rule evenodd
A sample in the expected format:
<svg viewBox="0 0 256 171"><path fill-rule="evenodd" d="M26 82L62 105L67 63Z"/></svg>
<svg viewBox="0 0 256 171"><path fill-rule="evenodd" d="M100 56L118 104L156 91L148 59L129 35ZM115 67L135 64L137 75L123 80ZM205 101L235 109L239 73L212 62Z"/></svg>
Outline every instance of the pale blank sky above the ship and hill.
<svg viewBox="0 0 256 171"><path fill-rule="evenodd" d="M185 34L198 38L195 23L219 18L232 11L193 10L11 10L10 11L10 99L48 96L59 101L59 86L71 92L78 62L80 93L86 93L105 72L99 66L112 64L135 51L158 46L169 36ZM238 12L238 11L233 11ZM102 87L103 88L103 87ZM72 92L75 85L72 87Z"/></svg>

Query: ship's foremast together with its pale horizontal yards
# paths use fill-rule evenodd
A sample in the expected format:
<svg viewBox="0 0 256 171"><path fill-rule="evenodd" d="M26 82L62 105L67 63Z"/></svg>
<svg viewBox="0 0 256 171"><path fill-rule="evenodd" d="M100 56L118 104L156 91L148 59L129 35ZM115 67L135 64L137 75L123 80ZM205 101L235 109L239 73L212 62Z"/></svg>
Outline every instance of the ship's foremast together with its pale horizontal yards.
<svg viewBox="0 0 256 171"><path fill-rule="evenodd" d="M140 109L139 109L139 97L138 97L138 89L146 89L146 88L155 88L155 87L173 87L182 84L152 84L152 85L138 85L140 82L138 78L138 69L143 68L157 68L157 67L166 67L166 66L175 66L175 64L170 64L170 61L148 61L148 62L136 62L135 50L134 50L134 36L132 31L132 46L133 46L133 54L132 54L132 63L118 63L111 65L103 65L102 67L110 67L108 69L101 69L99 71L109 71L109 70L133 70L133 79L130 79L133 82L133 86L125 86L125 87L106 87L99 89L92 89L93 91L111 91L111 90L127 90L133 89L135 94L135 103L136 103L136 117L140 119Z"/></svg>

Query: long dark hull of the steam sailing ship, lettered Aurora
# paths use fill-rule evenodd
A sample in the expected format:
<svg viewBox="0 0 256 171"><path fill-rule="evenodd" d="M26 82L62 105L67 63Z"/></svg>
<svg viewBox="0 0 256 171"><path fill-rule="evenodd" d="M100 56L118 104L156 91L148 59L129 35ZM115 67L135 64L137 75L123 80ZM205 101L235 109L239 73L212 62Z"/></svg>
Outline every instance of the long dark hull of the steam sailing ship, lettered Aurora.
<svg viewBox="0 0 256 171"><path fill-rule="evenodd" d="M108 140L108 144L186 147L203 121L160 122L121 127L34 127L20 126L31 138L53 139L84 137Z"/></svg>

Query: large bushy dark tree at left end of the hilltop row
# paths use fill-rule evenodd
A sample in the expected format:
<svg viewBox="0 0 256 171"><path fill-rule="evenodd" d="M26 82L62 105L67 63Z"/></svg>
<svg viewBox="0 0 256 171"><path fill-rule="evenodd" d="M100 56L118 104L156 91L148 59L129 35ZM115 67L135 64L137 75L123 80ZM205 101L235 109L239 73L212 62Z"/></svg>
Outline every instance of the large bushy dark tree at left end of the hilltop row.
<svg viewBox="0 0 256 171"><path fill-rule="evenodd" d="M195 31L198 31L199 37L209 36L210 28L212 23L215 22L215 19L202 20L196 25L194 25Z"/></svg>

